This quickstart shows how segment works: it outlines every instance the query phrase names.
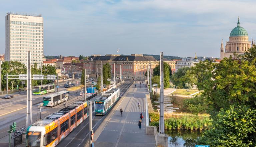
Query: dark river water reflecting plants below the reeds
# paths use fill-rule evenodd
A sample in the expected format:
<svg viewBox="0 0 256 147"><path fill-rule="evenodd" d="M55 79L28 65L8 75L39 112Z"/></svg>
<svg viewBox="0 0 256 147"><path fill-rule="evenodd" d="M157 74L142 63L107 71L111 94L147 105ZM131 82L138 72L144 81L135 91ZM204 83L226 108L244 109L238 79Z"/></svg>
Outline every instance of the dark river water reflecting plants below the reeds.
<svg viewBox="0 0 256 147"><path fill-rule="evenodd" d="M200 137L203 130L166 130L168 134L168 147L195 147L195 140Z"/></svg>

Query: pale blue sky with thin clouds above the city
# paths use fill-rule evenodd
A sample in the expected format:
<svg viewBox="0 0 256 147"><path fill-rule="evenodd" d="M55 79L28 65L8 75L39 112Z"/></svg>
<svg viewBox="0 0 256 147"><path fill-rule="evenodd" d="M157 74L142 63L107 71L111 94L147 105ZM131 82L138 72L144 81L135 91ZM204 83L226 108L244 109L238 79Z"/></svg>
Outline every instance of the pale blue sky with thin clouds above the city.
<svg viewBox="0 0 256 147"><path fill-rule="evenodd" d="M42 14L44 55L154 54L220 57L237 26L256 39L253 0L0 0L0 53L7 12Z"/></svg>

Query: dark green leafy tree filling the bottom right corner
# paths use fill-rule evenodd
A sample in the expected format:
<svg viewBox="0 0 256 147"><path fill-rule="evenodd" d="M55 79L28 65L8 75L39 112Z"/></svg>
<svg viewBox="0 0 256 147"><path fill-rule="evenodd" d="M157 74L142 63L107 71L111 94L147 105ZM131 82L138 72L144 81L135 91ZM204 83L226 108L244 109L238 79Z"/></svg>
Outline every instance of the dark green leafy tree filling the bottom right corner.
<svg viewBox="0 0 256 147"><path fill-rule="evenodd" d="M221 147L256 146L256 110L248 106L221 108L213 121L213 127L206 130L197 143Z"/></svg>

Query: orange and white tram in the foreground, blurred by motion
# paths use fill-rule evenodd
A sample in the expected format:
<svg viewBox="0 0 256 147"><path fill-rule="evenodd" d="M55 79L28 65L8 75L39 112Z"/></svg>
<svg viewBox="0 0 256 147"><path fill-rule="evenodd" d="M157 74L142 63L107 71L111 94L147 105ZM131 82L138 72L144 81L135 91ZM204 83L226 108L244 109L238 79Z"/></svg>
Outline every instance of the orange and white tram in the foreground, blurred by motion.
<svg viewBox="0 0 256 147"><path fill-rule="evenodd" d="M54 147L87 117L87 101L76 101L27 128L27 147Z"/></svg>

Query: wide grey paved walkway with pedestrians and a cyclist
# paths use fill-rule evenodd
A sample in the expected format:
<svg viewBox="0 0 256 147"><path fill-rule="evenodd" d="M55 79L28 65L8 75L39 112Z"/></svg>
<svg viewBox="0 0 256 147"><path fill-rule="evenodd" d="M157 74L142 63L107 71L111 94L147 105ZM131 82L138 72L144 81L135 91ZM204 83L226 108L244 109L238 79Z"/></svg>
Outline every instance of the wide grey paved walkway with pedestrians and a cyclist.
<svg viewBox="0 0 256 147"><path fill-rule="evenodd" d="M95 147L155 147L154 135L146 135L146 88L136 83L123 95L106 117L106 123L95 131ZM142 84L143 85L143 84ZM138 109L140 102L140 109ZM123 115L120 116L120 108ZM139 129L140 113L143 114L143 123ZM100 134L99 134L100 133ZM97 135L96 135L97 134Z"/></svg>

